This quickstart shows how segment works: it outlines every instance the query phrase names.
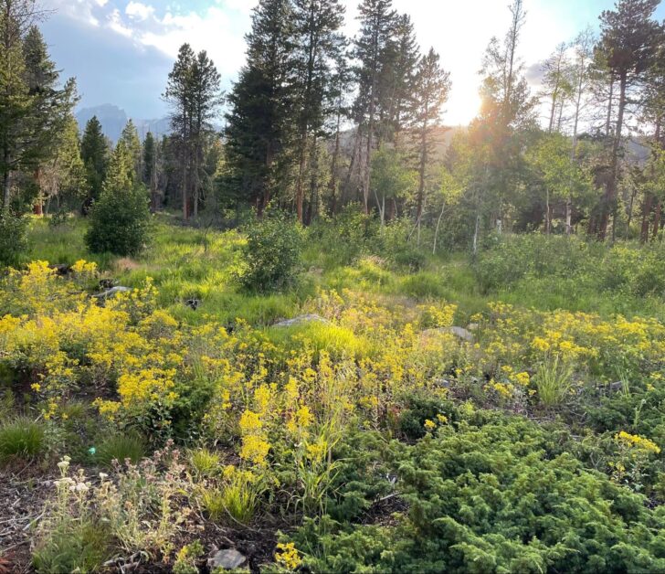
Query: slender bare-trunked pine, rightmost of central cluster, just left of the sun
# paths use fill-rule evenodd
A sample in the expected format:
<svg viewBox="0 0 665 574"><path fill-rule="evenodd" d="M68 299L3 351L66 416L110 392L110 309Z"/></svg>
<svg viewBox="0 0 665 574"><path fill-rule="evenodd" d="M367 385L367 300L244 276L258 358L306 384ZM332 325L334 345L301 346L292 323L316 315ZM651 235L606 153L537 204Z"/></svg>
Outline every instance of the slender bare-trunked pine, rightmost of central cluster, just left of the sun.
<svg viewBox="0 0 665 574"><path fill-rule="evenodd" d="M425 202L425 187L427 167L430 162L430 153L434 144L438 128L441 125L443 106L448 101L450 91L450 74L444 71L439 64L438 54L434 48L429 48L418 64L414 81L414 102L411 113L414 127L418 133L418 192L416 221L420 225Z"/></svg>

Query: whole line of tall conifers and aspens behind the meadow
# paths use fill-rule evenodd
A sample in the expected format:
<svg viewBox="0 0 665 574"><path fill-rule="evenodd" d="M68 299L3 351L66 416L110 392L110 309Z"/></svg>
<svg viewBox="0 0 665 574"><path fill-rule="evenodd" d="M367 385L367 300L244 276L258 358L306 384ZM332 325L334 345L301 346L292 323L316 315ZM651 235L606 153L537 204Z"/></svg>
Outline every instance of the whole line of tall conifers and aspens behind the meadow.
<svg viewBox="0 0 665 574"><path fill-rule="evenodd" d="M597 37L588 28L555 48L533 93L519 56L527 15L513 0L505 36L491 38L481 62L478 116L450 131L449 73L391 0L361 2L354 38L343 35L339 0L261 0L229 93L206 52L185 44L163 96L171 133L140 142L130 123L111 149L95 118L79 139L73 80L58 87L39 15L15 0L0 21L3 206L39 211L55 199L86 212L105 187L141 186L153 210L185 219L279 208L308 225L355 205L381 225L410 219L409 237L434 250L477 250L506 230L656 239L665 222L658 5L618 0ZM131 177L118 175L125 167Z"/></svg>

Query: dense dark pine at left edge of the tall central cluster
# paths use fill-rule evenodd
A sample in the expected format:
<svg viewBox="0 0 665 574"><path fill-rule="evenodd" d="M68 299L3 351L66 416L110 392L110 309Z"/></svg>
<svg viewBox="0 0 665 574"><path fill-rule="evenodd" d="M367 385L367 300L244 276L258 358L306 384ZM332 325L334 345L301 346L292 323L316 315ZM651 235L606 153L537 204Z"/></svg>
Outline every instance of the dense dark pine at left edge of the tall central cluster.
<svg viewBox="0 0 665 574"><path fill-rule="evenodd" d="M247 36L247 63L228 96L221 195L229 203L256 205L259 217L285 186L290 163L292 21L288 0L260 0Z"/></svg>

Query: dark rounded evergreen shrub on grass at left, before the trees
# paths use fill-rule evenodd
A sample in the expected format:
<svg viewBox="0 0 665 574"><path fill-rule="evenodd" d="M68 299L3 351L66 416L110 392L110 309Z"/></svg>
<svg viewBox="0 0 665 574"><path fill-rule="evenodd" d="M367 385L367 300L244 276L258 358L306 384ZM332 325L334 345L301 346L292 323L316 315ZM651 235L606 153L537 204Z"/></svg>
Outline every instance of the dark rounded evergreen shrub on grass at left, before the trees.
<svg viewBox="0 0 665 574"><path fill-rule="evenodd" d="M105 190L90 212L86 245L93 253L135 255L149 239L150 217L142 186Z"/></svg>

